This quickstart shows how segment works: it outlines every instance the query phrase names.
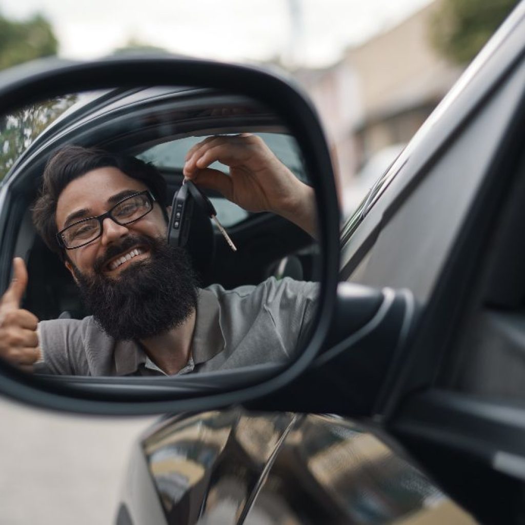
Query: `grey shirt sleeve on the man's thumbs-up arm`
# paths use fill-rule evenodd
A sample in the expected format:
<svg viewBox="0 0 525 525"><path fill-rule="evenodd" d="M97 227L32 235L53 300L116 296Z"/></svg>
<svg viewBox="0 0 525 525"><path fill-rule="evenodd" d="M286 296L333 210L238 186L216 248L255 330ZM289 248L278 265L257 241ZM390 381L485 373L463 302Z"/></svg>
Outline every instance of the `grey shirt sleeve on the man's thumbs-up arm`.
<svg viewBox="0 0 525 525"><path fill-rule="evenodd" d="M35 372L91 375L81 328L82 321L77 319L40 321L37 330L43 361Z"/></svg>

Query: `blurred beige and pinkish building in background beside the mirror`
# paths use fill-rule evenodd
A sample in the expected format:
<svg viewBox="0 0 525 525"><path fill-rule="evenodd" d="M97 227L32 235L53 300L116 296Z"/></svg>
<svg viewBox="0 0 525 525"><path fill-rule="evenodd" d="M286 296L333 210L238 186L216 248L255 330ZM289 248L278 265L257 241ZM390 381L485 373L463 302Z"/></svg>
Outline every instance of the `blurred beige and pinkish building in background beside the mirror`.
<svg viewBox="0 0 525 525"><path fill-rule="evenodd" d="M398 151L395 145L412 137L462 72L429 42L439 2L349 48L329 68L294 72L320 112L346 194L373 183L355 174L375 155L383 152L386 159L387 152Z"/></svg>

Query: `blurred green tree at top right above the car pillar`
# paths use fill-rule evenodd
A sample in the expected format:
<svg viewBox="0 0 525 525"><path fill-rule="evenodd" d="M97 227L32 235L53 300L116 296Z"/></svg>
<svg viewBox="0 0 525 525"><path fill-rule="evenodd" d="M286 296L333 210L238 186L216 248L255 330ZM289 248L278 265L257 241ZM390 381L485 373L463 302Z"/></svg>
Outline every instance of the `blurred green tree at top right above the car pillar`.
<svg viewBox="0 0 525 525"><path fill-rule="evenodd" d="M518 0L442 0L430 17L430 40L456 64L468 64Z"/></svg>

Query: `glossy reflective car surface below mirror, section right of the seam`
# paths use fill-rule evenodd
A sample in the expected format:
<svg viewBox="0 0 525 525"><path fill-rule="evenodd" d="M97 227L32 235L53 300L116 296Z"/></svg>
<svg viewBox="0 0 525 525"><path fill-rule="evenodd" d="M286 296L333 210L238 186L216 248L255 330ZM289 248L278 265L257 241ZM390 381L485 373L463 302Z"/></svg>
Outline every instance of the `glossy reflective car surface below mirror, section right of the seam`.
<svg viewBox="0 0 525 525"><path fill-rule="evenodd" d="M313 415L285 441L262 495L291 503L300 523L390 523L443 499L372 434Z"/></svg>

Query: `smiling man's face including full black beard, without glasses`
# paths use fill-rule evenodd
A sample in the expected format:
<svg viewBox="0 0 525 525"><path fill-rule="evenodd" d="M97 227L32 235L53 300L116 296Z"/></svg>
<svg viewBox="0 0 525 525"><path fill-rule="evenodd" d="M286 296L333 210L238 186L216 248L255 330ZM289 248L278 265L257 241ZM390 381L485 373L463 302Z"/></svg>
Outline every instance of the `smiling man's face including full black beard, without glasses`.
<svg viewBox="0 0 525 525"><path fill-rule="evenodd" d="M93 170L70 182L57 204L57 227L106 213L147 188L114 167ZM155 203L126 226L104 219L102 235L67 250L66 266L88 310L111 337L145 339L181 325L197 305L197 279L184 248L166 241L166 221ZM137 251L138 254L137 255ZM123 260L123 256L134 257ZM115 261L122 264L116 267Z"/></svg>

